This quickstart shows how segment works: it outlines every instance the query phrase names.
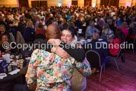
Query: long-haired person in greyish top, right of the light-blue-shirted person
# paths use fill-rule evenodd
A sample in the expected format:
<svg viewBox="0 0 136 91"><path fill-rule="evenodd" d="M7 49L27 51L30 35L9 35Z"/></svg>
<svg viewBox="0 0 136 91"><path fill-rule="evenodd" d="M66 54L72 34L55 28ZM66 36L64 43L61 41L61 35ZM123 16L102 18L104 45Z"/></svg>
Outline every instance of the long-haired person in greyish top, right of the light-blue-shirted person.
<svg viewBox="0 0 136 91"><path fill-rule="evenodd" d="M105 40L109 40L109 39L114 38L114 32L110 29L110 27L107 23L103 25L101 38L105 39Z"/></svg>

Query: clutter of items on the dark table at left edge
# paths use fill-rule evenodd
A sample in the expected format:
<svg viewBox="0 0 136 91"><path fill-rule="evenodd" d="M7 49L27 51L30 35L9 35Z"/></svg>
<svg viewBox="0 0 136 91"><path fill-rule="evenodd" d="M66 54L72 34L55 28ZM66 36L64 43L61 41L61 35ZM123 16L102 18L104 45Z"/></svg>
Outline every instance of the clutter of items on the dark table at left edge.
<svg viewBox="0 0 136 91"><path fill-rule="evenodd" d="M0 58L0 73L8 73L16 69L22 69L24 61L29 60L30 57L23 59L21 55L4 54Z"/></svg>

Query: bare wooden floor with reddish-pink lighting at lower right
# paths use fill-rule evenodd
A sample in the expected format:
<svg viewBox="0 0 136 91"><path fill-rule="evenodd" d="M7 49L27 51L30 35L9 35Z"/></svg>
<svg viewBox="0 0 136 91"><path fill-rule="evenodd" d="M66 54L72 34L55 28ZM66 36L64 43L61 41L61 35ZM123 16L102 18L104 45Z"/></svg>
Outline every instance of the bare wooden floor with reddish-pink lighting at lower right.
<svg viewBox="0 0 136 91"><path fill-rule="evenodd" d="M136 53L125 52L125 63L118 60L120 71L111 61L102 73L102 82L99 83L99 74L87 78L86 91L136 91Z"/></svg>

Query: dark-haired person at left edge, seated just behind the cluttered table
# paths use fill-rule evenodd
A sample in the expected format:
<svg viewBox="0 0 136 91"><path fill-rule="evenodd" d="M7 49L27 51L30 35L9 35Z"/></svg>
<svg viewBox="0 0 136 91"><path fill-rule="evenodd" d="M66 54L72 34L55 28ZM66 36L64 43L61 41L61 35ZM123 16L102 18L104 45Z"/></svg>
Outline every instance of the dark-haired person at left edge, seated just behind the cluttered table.
<svg viewBox="0 0 136 91"><path fill-rule="evenodd" d="M4 52L4 53L11 53L11 52L13 52L13 50L11 50L9 45L4 45L3 46L3 43L6 43L6 42L10 43L9 36L7 34L3 34L2 35L2 39L0 41L0 50L1 50L1 52Z"/></svg>

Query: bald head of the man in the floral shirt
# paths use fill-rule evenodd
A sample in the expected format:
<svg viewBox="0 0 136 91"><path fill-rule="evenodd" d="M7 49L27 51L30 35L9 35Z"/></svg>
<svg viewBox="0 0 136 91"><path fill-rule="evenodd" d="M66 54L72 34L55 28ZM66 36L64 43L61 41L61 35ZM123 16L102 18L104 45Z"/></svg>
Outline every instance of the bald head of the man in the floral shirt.
<svg viewBox="0 0 136 91"><path fill-rule="evenodd" d="M50 24L47 27L46 38L48 39L60 39L61 31L56 24Z"/></svg>

